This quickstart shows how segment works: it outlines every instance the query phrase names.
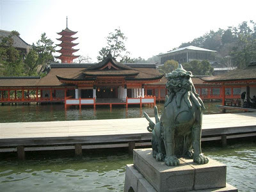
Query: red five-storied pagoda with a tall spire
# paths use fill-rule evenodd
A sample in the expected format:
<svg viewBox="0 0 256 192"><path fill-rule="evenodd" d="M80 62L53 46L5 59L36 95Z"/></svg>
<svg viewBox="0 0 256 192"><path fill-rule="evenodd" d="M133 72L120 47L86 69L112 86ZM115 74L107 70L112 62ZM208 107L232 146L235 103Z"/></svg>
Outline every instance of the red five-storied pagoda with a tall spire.
<svg viewBox="0 0 256 192"><path fill-rule="evenodd" d="M56 56L56 58L60 59L61 63L73 63L73 60L79 57L73 54L73 52L77 52L79 49L72 48L78 45L72 42L78 38L78 37L72 37L72 35L75 35L76 33L77 32L71 31L70 29L68 29L68 18L67 18L67 28L65 30L62 30L60 33L57 33L58 35L61 35L61 38L57 38L57 40L61 41L61 44L58 44L58 46L60 46L61 49L57 52L60 52L61 55Z"/></svg>

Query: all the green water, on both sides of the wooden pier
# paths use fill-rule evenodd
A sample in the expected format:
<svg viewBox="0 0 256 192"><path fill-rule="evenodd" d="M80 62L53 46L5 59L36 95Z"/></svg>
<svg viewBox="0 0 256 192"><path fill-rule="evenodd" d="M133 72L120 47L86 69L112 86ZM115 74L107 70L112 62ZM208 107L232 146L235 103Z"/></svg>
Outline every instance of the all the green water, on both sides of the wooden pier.
<svg viewBox="0 0 256 192"><path fill-rule="evenodd" d="M206 102L205 114L220 113L218 102ZM157 104L159 113L163 104ZM69 108L62 105L0 106L0 122L40 122L153 116L153 108L120 107ZM227 148L219 143L202 143L203 152L227 164L227 182L239 191L256 191L256 141L229 141ZM216 147L217 146L217 147ZM81 159L74 151L26 152L26 161L17 161L15 153L0 154L0 191L123 191L125 165L132 163L127 148L84 150Z"/></svg>

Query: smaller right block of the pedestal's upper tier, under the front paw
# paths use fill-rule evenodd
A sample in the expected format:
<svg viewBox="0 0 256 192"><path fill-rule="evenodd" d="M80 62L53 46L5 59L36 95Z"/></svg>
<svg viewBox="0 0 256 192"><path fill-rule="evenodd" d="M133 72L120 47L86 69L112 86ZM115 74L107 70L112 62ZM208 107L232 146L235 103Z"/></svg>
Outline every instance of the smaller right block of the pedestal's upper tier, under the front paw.
<svg viewBox="0 0 256 192"><path fill-rule="evenodd" d="M226 186L227 166L209 158L207 164L196 164L193 159L182 161L195 169L194 189L224 188Z"/></svg>

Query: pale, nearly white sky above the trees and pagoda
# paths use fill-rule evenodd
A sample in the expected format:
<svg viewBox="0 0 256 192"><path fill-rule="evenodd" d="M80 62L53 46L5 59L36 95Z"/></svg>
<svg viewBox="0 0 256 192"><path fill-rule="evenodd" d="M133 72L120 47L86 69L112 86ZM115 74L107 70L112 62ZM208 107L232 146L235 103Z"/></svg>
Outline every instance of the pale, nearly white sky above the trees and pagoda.
<svg viewBox="0 0 256 192"><path fill-rule="evenodd" d="M96 62L106 36L120 27L131 58L147 59L210 30L256 21L255 7L255 0L0 0L0 29L18 31L28 44L45 32L60 44L57 33L66 28L68 17L68 28L78 31L75 54Z"/></svg>

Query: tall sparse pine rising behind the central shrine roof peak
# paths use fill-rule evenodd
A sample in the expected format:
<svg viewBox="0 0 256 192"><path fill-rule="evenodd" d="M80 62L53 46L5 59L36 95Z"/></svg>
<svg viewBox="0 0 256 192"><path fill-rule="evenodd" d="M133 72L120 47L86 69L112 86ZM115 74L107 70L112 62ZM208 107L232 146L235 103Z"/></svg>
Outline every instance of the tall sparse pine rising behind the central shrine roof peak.
<svg viewBox="0 0 256 192"><path fill-rule="evenodd" d="M127 40L127 37L122 33L121 29L115 29L115 32L109 33L107 36L107 46L102 47L99 51L99 56L97 60L102 61L106 56L111 53L114 58L119 58L120 60L127 60L127 49L124 42Z"/></svg>

